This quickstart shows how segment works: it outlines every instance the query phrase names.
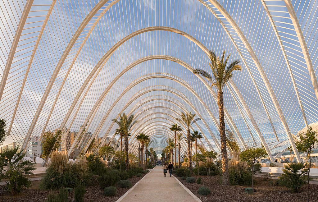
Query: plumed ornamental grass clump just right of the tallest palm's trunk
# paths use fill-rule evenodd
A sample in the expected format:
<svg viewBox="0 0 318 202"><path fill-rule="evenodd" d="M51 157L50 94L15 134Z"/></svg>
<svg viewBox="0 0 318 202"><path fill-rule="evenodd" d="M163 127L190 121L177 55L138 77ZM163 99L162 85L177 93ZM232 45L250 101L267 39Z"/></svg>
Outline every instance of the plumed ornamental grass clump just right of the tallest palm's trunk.
<svg viewBox="0 0 318 202"><path fill-rule="evenodd" d="M229 183L230 185L250 185L252 181L252 174L248 170L245 161L237 161L232 158L229 161Z"/></svg>

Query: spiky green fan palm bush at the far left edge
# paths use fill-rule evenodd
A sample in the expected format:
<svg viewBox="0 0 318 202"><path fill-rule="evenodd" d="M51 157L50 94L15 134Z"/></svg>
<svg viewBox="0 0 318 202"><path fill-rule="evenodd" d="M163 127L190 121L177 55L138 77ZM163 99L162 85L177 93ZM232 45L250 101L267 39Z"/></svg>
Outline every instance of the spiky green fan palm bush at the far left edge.
<svg viewBox="0 0 318 202"><path fill-rule="evenodd" d="M26 152L18 151L18 147L0 152L0 181L5 180L6 188L11 195L19 193L23 187L30 187L26 177L35 170L35 163L25 161Z"/></svg>

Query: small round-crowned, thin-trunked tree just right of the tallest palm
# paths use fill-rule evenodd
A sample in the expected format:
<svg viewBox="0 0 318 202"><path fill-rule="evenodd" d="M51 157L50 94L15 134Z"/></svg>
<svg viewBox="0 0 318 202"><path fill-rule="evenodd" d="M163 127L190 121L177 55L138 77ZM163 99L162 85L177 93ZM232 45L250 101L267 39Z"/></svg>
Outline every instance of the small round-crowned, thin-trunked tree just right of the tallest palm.
<svg viewBox="0 0 318 202"><path fill-rule="evenodd" d="M254 164L257 159L265 158L267 157L267 152L264 147L262 148L250 148L245 151L242 151L240 154L240 160L246 161L249 166L251 167L252 171L252 189L253 189L253 195L254 195L254 182L253 182L253 176L255 174L254 172Z"/></svg>

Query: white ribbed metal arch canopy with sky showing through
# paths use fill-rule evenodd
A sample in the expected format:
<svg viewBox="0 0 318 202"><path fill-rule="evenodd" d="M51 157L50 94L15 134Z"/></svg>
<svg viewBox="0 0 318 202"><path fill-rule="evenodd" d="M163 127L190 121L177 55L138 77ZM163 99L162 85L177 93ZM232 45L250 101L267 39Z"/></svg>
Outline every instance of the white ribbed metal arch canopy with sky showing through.
<svg viewBox="0 0 318 202"><path fill-rule="evenodd" d="M1 9L0 118L8 123L6 144L14 141L26 150L46 130L75 131L86 124L93 137L105 140L114 130L109 119L124 112L121 105L133 113L143 96L169 94L173 105L180 101L184 111L196 111L203 120L196 127L211 136L205 137L209 149L213 144L219 150L216 94L191 73L192 67L208 70L206 47L215 47L243 62L243 76L235 74L225 88L226 124L241 149L262 144L273 161L272 153L291 146L301 161L292 134L318 120L313 20L318 14L310 9L316 0L254 0L259 2L254 6L248 0L164 0L166 7L121 1L75 0L68 7L55 0L41 5L14 0ZM144 12L136 13L139 9Z"/></svg>

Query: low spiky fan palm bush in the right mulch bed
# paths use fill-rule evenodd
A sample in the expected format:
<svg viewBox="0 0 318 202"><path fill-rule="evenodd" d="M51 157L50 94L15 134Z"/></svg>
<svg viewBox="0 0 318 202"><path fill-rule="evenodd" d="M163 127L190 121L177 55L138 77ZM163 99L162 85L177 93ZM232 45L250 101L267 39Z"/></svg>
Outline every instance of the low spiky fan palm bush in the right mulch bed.
<svg viewBox="0 0 318 202"><path fill-rule="evenodd" d="M280 185L286 186L293 190L293 192L299 192L301 187L307 183L308 168L304 163L295 163L284 165L283 174L279 177Z"/></svg>

